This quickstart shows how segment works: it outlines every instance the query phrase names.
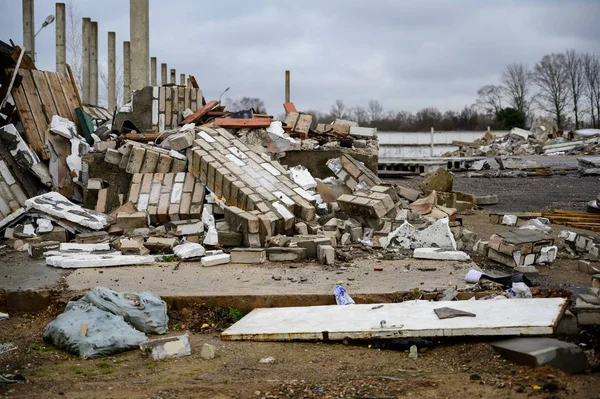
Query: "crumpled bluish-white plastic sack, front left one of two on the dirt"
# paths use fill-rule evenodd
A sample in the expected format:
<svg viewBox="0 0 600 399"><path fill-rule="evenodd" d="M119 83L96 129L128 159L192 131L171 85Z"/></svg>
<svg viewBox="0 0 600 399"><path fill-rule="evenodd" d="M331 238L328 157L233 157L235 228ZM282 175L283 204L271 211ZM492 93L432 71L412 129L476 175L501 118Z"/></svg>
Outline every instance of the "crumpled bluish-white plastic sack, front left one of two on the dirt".
<svg viewBox="0 0 600 399"><path fill-rule="evenodd" d="M44 341L83 359L136 349L146 340L123 317L85 302L69 302L44 330Z"/></svg>

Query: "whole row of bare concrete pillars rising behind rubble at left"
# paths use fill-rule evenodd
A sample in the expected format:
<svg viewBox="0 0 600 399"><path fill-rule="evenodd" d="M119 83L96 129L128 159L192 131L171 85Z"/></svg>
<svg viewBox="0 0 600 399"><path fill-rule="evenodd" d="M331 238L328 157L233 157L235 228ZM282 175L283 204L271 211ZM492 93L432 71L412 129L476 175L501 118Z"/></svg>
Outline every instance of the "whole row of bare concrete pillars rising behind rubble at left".
<svg viewBox="0 0 600 399"><path fill-rule="evenodd" d="M23 46L35 60L34 1L22 0ZM130 18L130 41L123 42L123 102L129 101L132 90L158 85L157 59L150 58L149 0L130 0L129 12L134 17ZM98 105L98 22L83 18L81 33L82 101ZM57 72L66 72L66 49L66 7L56 3ZM176 84L176 70L170 70L170 79L167 72L167 64L161 64L161 85ZM190 85L185 74L179 78L180 85ZM116 104L116 33L108 32L108 109L114 110Z"/></svg>

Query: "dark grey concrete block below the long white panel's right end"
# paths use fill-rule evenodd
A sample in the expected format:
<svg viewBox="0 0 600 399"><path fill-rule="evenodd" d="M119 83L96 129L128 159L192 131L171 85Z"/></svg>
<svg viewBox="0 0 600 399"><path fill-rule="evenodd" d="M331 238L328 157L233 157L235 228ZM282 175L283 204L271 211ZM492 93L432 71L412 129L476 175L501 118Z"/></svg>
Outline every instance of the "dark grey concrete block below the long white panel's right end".
<svg viewBox="0 0 600 399"><path fill-rule="evenodd" d="M569 374L582 373L587 369L583 349L570 342L554 338L513 338L491 345L504 358L517 364L550 366Z"/></svg>

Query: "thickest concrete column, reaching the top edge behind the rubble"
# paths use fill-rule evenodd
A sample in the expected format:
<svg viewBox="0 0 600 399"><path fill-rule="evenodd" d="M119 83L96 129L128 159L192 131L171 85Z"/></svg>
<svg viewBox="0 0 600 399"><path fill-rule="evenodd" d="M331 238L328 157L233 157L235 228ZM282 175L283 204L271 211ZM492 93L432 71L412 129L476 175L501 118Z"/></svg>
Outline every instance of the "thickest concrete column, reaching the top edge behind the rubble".
<svg viewBox="0 0 600 399"><path fill-rule="evenodd" d="M129 40L131 40L131 89L140 90L150 81L149 0L129 0Z"/></svg>

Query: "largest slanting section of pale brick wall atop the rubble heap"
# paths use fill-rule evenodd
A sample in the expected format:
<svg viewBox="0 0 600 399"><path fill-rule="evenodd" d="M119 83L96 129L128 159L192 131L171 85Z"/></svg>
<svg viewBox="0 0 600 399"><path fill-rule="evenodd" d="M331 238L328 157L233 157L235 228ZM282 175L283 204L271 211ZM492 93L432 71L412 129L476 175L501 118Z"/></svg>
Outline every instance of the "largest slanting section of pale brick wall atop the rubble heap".
<svg viewBox="0 0 600 399"><path fill-rule="evenodd" d="M279 162L258 155L227 130L202 127L188 150L189 171L227 204L225 218L257 246L293 231L295 218L315 219L314 200Z"/></svg>

